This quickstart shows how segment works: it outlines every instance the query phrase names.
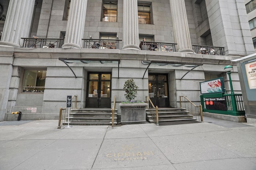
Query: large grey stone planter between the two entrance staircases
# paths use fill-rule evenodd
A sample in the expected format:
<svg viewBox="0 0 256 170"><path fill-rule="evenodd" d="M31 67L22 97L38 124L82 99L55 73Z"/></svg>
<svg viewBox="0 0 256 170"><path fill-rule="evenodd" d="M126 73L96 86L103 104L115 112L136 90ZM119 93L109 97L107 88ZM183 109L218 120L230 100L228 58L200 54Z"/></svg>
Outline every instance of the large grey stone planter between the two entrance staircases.
<svg viewBox="0 0 256 170"><path fill-rule="evenodd" d="M121 123L146 123L147 103L120 103Z"/></svg>

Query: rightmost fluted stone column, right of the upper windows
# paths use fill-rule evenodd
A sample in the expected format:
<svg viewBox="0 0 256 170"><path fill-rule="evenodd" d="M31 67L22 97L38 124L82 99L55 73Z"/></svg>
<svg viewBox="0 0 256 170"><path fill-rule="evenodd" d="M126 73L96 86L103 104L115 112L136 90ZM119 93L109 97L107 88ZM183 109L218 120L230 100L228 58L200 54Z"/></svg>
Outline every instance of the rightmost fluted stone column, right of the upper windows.
<svg viewBox="0 0 256 170"><path fill-rule="evenodd" d="M172 12L172 26L178 52L194 53L190 40L184 0L170 0L170 9Z"/></svg>

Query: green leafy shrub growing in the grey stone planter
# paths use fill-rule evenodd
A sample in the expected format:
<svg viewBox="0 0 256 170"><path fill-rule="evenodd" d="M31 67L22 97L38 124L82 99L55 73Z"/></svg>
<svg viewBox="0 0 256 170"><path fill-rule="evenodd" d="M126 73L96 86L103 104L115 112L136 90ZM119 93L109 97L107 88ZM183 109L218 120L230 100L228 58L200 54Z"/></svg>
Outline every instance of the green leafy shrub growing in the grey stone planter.
<svg viewBox="0 0 256 170"><path fill-rule="evenodd" d="M128 79L124 82L125 98L128 101L134 100L137 95L137 89L139 87L136 85L133 79Z"/></svg>

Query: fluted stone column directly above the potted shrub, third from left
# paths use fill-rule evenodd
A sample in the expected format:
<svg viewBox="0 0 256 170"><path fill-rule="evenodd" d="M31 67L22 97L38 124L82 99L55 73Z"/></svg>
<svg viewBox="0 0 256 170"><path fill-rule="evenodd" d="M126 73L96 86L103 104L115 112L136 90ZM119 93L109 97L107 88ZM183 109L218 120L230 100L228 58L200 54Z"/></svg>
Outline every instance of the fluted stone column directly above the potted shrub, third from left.
<svg viewBox="0 0 256 170"><path fill-rule="evenodd" d="M136 49L139 47L138 1L124 0L123 12L123 44L122 49Z"/></svg>

